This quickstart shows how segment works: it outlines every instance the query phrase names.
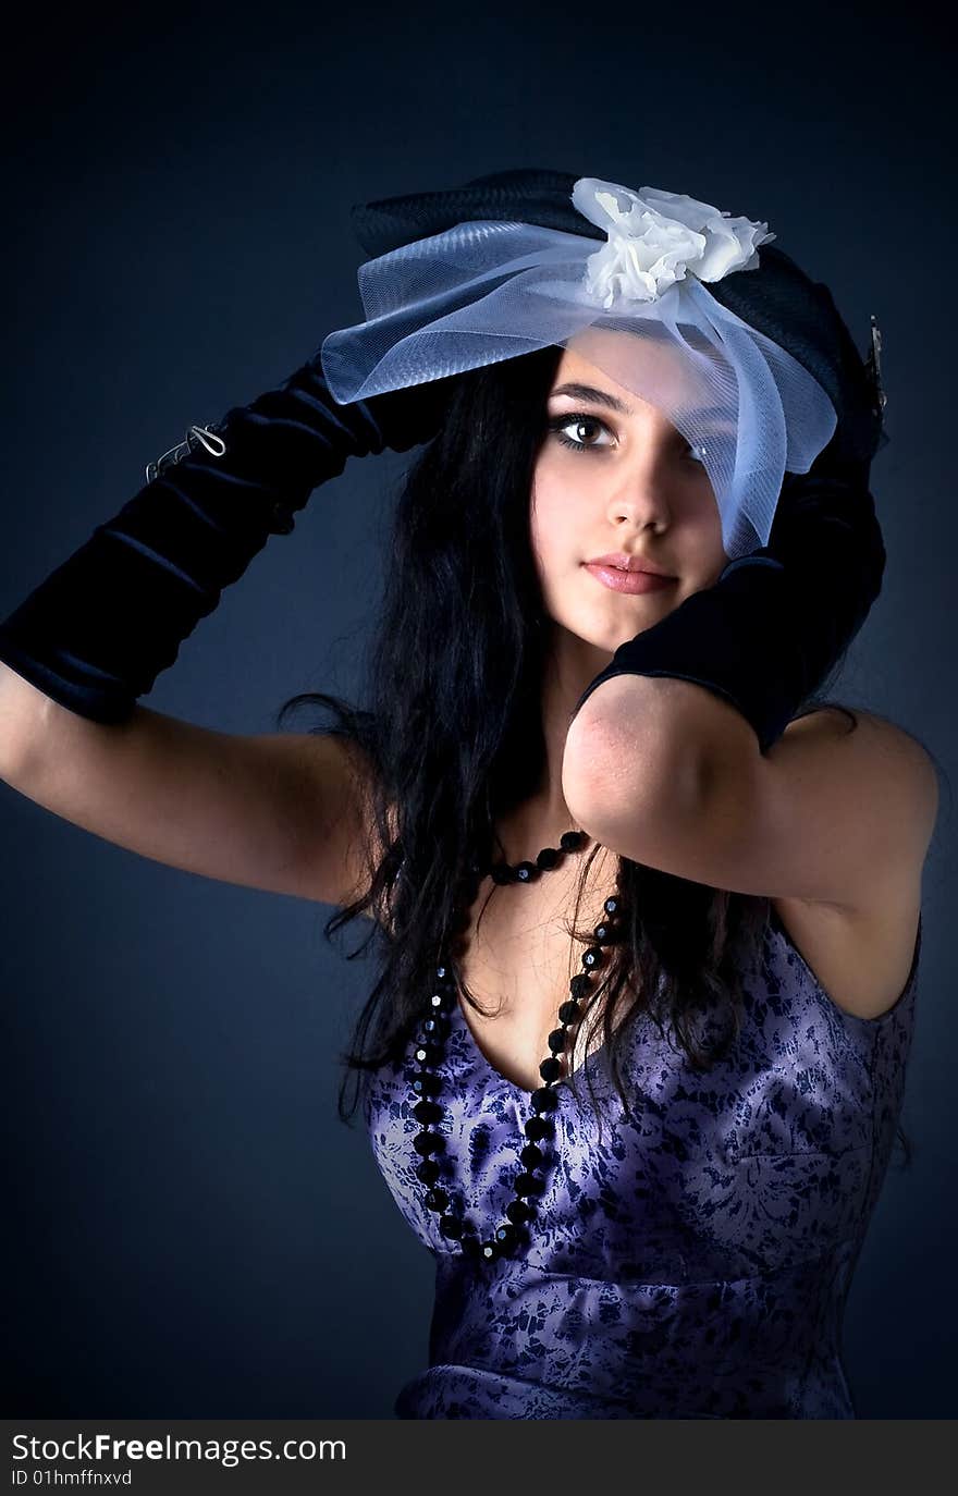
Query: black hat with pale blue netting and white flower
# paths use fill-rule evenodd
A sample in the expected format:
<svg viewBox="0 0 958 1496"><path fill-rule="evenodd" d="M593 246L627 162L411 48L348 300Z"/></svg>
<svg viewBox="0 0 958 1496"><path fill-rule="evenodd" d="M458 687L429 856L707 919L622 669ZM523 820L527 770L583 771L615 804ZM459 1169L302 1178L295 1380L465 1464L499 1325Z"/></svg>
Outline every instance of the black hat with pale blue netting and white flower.
<svg viewBox="0 0 958 1496"><path fill-rule="evenodd" d="M680 193L513 171L353 208L365 322L320 361L340 404L548 346L696 446L730 558L768 542L786 471L882 443L874 370L768 224ZM602 241L602 242L597 242Z"/></svg>

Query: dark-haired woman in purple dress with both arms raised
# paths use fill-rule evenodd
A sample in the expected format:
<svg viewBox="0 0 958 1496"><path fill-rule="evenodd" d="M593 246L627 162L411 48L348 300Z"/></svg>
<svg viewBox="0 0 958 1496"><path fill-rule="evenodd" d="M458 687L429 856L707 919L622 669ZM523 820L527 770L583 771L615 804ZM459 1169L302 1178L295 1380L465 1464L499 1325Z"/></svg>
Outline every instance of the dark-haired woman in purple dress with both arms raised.
<svg viewBox="0 0 958 1496"><path fill-rule="evenodd" d="M518 186L524 221L569 236L567 184ZM486 223L501 188L449 194L443 221ZM425 218L406 242L445 232ZM756 370L748 332L723 429L711 323L681 341L665 302L641 329L632 301L627 326L590 304L584 337L539 320L504 362L473 320L473 362L440 340L424 381L406 344L338 408L311 361L195 428L0 630L18 788L177 866L346 904L331 928L376 917L388 959L350 1062L437 1261L403 1417L853 1417L841 1309L901 1104L937 784L880 718L802 715L883 565L847 447L763 525L769 474L784 500L784 459L804 473L825 444L825 386L781 350ZM397 316L391 346L370 316L373 370L410 335ZM341 395L337 347L362 347L323 346ZM772 383L793 416L777 474L742 462ZM687 440L707 408L708 444ZM349 450L415 434L434 440L397 510L370 711L313 697L335 733L235 739L135 706ZM629 589L609 554L665 579Z"/></svg>

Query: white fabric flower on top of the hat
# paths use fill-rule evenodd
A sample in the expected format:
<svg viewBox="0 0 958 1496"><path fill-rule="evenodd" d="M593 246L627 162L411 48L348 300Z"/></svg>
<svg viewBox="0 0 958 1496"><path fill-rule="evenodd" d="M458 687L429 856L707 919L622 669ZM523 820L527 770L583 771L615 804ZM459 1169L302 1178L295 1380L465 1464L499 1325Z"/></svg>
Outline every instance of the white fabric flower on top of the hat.
<svg viewBox="0 0 958 1496"><path fill-rule="evenodd" d="M590 254L584 277L587 293L606 311L657 301L687 271L717 281L730 271L756 269L756 245L777 238L766 223L732 218L684 193L657 187L636 193L597 177L579 177L572 203L609 236Z"/></svg>

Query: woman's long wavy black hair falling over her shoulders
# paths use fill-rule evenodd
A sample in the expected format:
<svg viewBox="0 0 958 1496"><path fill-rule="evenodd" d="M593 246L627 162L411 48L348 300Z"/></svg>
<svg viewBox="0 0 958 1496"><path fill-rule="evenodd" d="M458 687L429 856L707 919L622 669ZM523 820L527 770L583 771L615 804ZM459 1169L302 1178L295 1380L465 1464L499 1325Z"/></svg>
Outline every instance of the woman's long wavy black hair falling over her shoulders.
<svg viewBox="0 0 958 1496"><path fill-rule="evenodd" d="M451 380L443 426L413 459L398 494L367 664L368 708L301 693L277 714L281 726L296 706L326 708L337 718L326 732L358 745L373 769L358 788L382 856L368 848L368 887L325 925L331 939L368 910L376 923L353 956L377 936L385 941L382 974L340 1056L346 1065L338 1098L343 1121L356 1109L361 1074L398 1061L424 1016L437 956L449 950L457 931L470 865L488 862L497 847L501 854L498 818L542 782L548 619L528 504L561 352L548 347ZM826 705L825 685L796 715ZM853 732L858 718L847 708L840 711ZM599 851L596 844L584 863L567 925L584 947L594 944L594 935L578 928L579 907ZM608 947L609 959L590 993L587 1047L602 1025L603 1053L627 1107L621 1062L641 1011L663 1034L671 1022L696 1070L708 1070L727 1053L742 1020L738 953L742 941L756 948L769 901L626 857L618 859L618 886L626 925L620 941ZM620 1002L623 992L632 993L630 1004ZM466 986L463 996L486 1011ZM699 1023L708 1010L713 1017L724 1014L724 1032L720 1022L717 1043L705 1047ZM572 1073L572 1086L579 1071L596 1103L590 1067ZM350 1077L355 1088L347 1107Z"/></svg>

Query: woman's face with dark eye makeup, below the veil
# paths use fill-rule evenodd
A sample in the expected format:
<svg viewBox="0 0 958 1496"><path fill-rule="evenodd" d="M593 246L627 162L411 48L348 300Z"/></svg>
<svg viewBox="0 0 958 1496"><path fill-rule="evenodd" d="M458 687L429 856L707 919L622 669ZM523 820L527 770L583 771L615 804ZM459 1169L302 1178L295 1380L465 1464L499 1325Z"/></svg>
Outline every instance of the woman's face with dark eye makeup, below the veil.
<svg viewBox="0 0 958 1496"><path fill-rule="evenodd" d="M718 579L729 558L716 495L668 417L570 349L552 378L546 422L530 494L545 609L560 628L614 652ZM587 568L609 552L648 561L672 580L612 591Z"/></svg>

